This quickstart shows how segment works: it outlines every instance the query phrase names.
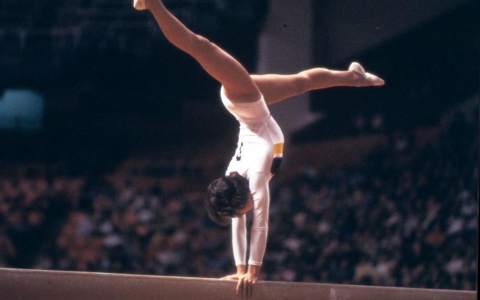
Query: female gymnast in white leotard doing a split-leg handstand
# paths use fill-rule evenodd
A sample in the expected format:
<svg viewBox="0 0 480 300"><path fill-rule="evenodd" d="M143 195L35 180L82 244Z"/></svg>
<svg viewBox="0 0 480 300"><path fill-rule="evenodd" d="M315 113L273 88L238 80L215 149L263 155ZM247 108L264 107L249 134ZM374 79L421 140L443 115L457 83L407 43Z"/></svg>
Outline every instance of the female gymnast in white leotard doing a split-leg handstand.
<svg viewBox="0 0 480 300"><path fill-rule="evenodd" d="M240 123L238 147L226 175L207 188L209 216L221 225L232 223L233 254L237 272L223 279L238 280L236 292L252 296L267 241L268 183L283 153L283 134L267 105L302 93L335 86L381 86L384 81L352 63L347 71L314 68L293 75L250 75L217 45L187 29L161 0L134 0L137 10L148 9L165 37L191 55L222 85L225 108ZM250 257L246 268L245 214L253 209Z"/></svg>

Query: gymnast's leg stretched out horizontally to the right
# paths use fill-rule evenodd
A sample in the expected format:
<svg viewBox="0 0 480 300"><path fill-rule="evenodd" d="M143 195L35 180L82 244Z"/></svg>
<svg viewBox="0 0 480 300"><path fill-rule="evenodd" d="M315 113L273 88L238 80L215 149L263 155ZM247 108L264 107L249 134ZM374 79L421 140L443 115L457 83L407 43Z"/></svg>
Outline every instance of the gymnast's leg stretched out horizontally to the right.
<svg viewBox="0 0 480 300"><path fill-rule="evenodd" d="M251 77L267 104L280 102L312 90L373 85L372 82L351 70L335 71L325 68L314 68L293 75L267 74L251 75Z"/></svg>

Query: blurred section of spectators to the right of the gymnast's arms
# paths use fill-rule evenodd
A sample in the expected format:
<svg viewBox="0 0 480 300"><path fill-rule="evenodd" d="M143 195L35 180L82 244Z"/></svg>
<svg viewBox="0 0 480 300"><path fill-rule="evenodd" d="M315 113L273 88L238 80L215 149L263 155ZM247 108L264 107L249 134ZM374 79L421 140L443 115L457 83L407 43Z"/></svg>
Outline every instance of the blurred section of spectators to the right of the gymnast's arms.
<svg viewBox="0 0 480 300"><path fill-rule="evenodd" d="M458 114L436 145L400 134L360 168L305 167L273 193L269 279L474 289L477 130Z"/></svg>

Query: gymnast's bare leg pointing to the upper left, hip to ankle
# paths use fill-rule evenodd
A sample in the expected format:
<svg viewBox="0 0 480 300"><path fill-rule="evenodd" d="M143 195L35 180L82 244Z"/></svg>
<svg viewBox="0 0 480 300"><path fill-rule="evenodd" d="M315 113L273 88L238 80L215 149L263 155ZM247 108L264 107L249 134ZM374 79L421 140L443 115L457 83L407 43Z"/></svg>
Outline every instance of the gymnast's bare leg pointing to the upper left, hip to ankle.
<svg viewBox="0 0 480 300"><path fill-rule="evenodd" d="M195 58L225 88L233 102L251 102L260 98L260 91L245 68L228 53L204 37L194 34L167 11L160 0L146 0L165 37L176 47Z"/></svg>

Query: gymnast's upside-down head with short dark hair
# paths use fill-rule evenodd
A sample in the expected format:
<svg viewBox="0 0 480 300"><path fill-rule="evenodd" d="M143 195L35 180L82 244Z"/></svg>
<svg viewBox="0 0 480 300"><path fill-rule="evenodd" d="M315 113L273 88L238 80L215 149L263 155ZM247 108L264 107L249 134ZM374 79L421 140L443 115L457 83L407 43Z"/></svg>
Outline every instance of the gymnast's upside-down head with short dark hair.
<svg viewBox="0 0 480 300"><path fill-rule="evenodd" d="M208 215L216 223L228 225L237 210L247 204L249 193L248 180L237 172L215 179L207 187Z"/></svg>

